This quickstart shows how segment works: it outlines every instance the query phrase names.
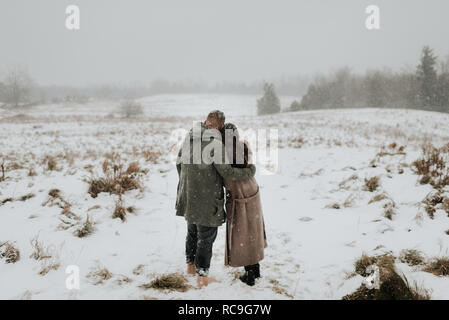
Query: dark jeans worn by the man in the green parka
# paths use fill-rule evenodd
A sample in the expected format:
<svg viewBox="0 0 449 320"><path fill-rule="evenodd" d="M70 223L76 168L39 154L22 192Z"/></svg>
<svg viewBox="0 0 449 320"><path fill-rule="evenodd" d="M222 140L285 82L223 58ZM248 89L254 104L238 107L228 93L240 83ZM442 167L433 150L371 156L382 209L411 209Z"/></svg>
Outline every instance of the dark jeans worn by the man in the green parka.
<svg viewBox="0 0 449 320"><path fill-rule="evenodd" d="M212 246L217 237L217 227L187 223L186 262L196 266L200 276L209 274Z"/></svg>

